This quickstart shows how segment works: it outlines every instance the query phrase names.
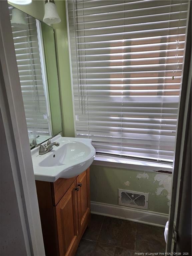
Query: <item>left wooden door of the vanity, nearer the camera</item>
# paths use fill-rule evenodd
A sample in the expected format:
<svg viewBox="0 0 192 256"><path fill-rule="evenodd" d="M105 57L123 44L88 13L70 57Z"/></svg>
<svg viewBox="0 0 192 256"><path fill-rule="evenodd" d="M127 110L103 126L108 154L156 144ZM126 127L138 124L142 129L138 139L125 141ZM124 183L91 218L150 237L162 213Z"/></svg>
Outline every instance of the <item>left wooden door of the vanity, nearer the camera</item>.
<svg viewBox="0 0 192 256"><path fill-rule="evenodd" d="M76 180L56 206L60 256L71 255L79 235Z"/></svg>

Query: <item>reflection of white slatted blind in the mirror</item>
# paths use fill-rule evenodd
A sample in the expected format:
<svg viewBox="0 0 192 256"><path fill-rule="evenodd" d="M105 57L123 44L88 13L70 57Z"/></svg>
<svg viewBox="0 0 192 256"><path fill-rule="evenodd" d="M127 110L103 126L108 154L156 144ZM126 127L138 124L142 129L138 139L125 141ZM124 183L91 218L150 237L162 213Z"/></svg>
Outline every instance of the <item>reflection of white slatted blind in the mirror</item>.
<svg viewBox="0 0 192 256"><path fill-rule="evenodd" d="M9 7L10 19L12 9ZM25 14L27 26L12 26L17 67L24 102L28 132L32 136L50 135L50 120L42 76L36 19ZM45 67L44 67L45 68Z"/></svg>

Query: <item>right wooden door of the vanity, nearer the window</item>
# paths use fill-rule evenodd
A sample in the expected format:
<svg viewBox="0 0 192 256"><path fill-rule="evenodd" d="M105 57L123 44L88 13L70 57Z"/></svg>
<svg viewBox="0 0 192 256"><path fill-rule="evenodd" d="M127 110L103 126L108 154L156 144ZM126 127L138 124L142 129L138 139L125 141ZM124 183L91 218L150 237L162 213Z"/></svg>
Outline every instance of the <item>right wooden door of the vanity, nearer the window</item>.
<svg viewBox="0 0 192 256"><path fill-rule="evenodd" d="M78 216L79 232L84 232L90 218L90 187L89 187L89 169L77 177L78 198Z"/></svg>

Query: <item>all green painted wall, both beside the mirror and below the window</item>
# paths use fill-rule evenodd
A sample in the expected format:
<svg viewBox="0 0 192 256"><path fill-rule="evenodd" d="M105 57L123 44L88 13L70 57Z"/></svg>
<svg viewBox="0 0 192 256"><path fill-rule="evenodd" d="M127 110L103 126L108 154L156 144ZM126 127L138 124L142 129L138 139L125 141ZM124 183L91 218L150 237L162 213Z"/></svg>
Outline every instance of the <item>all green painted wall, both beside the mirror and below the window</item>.
<svg viewBox="0 0 192 256"><path fill-rule="evenodd" d="M53 25L53 28L56 34L63 132L64 136L74 137L65 1L56 1L56 6L61 18L61 23ZM42 20L44 2L32 1L31 6L22 10ZM121 188L149 193L150 211L160 213L169 211L171 175L92 165L90 179L92 201L117 205L118 188Z"/></svg>

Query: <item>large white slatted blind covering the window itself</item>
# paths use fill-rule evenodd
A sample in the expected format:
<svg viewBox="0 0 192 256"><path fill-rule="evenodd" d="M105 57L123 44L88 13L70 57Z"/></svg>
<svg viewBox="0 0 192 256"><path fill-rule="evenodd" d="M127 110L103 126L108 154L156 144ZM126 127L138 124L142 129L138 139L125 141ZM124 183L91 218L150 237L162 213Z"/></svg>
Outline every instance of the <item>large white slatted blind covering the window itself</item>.
<svg viewBox="0 0 192 256"><path fill-rule="evenodd" d="M98 153L173 161L187 10L67 1L76 136Z"/></svg>

